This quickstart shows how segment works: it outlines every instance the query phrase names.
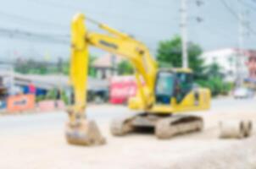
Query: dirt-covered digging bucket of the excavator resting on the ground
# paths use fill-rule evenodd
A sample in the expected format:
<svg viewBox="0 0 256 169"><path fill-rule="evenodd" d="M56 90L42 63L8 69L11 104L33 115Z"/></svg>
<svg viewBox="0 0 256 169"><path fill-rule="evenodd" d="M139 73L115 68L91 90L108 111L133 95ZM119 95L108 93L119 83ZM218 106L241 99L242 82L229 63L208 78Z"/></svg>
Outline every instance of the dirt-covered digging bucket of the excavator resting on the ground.
<svg viewBox="0 0 256 169"><path fill-rule="evenodd" d="M100 134L99 128L94 121L86 119L79 123L66 124L66 139L69 144L99 145L105 144L106 140Z"/></svg>

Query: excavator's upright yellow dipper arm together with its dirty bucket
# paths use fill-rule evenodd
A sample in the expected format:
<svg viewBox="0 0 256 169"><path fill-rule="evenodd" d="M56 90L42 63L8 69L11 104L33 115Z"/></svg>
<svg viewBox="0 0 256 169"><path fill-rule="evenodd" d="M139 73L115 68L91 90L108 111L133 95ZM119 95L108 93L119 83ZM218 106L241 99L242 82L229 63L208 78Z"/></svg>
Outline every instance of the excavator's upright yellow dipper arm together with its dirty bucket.
<svg viewBox="0 0 256 169"><path fill-rule="evenodd" d="M85 16L76 14L71 24L70 82L74 89L74 106L67 112L70 121L66 124L66 139L70 144L104 144L105 139L93 121L85 116L87 74L89 63L88 45L85 41Z"/></svg>

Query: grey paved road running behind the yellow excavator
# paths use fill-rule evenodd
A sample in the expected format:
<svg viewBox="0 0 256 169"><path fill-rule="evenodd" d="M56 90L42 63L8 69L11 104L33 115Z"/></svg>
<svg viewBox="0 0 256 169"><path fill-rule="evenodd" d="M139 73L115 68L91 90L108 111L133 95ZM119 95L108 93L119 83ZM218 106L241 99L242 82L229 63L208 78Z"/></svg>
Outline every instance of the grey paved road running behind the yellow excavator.
<svg viewBox="0 0 256 169"><path fill-rule="evenodd" d="M231 98L220 98L212 101L209 113L215 112L253 112L256 109L255 100L234 100ZM109 121L114 117L129 114L131 111L125 106L89 106L87 116L97 121ZM256 113L256 112L255 112ZM204 112L203 112L204 114ZM26 115L14 115L0 117L0 134L2 132L30 132L38 128L62 128L67 121L65 112L36 113Z"/></svg>

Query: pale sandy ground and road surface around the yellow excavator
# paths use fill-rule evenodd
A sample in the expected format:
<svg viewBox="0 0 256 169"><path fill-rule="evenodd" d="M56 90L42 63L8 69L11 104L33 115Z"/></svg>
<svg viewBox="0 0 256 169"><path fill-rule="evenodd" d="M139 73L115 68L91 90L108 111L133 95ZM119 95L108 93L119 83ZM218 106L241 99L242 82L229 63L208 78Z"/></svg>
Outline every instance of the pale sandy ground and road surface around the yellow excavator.
<svg viewBox="0 0 256 169"><path fill-rule="evenodd" d="M125 106L89 106L107 144L82 147L64 139L64 112L0 116L0 168L256 168L256 100L219 98L204 118L203 132L159 140L153 134L113 137L109 123L132 113ZM219 139L220 120L251 119L252 137Z"/></svg>

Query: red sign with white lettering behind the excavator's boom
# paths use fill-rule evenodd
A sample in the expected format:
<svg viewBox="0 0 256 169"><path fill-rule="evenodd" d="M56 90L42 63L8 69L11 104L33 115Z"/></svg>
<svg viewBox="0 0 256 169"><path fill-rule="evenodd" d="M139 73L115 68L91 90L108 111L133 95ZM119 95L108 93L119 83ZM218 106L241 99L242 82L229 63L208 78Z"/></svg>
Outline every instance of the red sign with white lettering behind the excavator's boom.
<svg viewBox="0 0 256 169"><path fill-rule="evenodd" d="M110 80L110 102L122 104L129 97L136 95L136 79L134 76L115 76Z"/></svg>

